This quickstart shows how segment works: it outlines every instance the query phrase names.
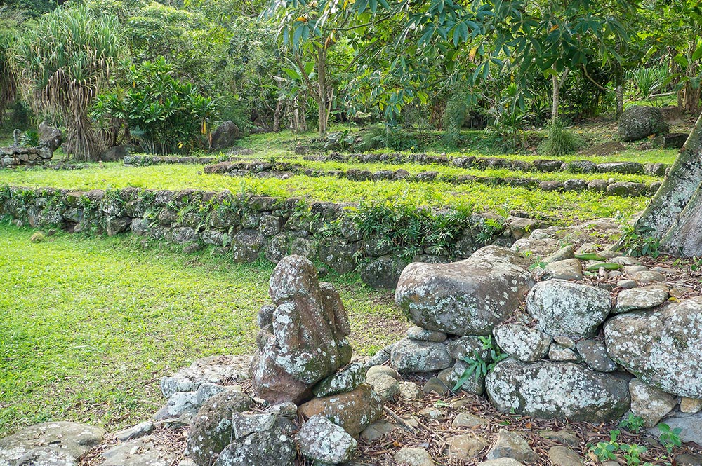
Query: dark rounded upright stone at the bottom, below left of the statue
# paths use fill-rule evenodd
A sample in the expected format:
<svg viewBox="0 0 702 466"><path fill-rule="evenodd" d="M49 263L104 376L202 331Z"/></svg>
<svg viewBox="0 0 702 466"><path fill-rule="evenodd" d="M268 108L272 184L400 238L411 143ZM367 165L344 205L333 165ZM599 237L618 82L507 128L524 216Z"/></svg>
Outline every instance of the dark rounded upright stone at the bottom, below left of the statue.
<svg viewBox="0 0 702 466"><path fill-rule="evenodd" d="M232 416L248 411L253 405L249 395L227 390L208 399L192 420L187 439L190 458L199 466L209 466L212 459L232 441Z"/></svg>

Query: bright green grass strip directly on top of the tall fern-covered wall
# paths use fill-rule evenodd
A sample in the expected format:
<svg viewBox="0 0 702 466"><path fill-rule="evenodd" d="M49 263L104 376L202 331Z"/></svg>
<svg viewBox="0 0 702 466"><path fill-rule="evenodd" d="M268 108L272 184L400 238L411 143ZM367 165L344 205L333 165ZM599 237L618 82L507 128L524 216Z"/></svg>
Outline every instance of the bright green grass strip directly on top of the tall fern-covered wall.
<svg viewBox="0 0 702 466"><path fill-rule="evenodd" d="M531 191L479 183L351 181L336 177L296 175L289 179L226 177L201 174L201 165L152 165L124 167L121 163L93 165L84 170L16 170L0 182L11 186L62 189L107 189L133 186L147 189L205 189L252 193L281 198L369 203L390 202L433 207L461 206L475 212L522 210L533 217L562 224L631 215L642 210L647 198L620 198L592 191ZM199 174L200 173L200 174Z"/></svg>

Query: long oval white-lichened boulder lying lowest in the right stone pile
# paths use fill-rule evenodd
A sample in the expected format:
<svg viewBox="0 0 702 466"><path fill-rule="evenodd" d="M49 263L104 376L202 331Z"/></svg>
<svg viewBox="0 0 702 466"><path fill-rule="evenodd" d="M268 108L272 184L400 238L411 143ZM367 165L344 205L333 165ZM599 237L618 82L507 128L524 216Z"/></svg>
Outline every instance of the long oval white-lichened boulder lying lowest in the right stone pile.
<svg viewBox="0 0 702 466"><path fill-rule="evenodd" d="M536 418L608 422L630 402L625 378L571 362L505 359L487 375L485 387L500 411Z"/></svg>

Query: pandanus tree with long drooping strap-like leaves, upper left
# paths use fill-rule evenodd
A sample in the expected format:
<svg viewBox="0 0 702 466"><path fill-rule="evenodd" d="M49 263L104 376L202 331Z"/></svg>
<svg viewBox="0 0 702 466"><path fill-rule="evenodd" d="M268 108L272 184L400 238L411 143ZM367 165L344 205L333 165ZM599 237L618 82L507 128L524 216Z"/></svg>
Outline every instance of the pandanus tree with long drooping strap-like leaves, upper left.
<svg viewBox="0 0 702 466"><path fill-rule="evenodd" d="M22 34L13 69L34 111L65 124L64 150L96 160L102 140L90 109L123 48L117 20L82 5L57 8Z"/></svg>

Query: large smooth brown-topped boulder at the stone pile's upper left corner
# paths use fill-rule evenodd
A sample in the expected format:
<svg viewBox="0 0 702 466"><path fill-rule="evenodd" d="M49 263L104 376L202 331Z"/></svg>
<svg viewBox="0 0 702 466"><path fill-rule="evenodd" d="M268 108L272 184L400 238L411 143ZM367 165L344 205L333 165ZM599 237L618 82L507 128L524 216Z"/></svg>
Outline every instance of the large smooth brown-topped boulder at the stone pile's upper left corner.
<svg viewBox="0 0 702 466"><path fill-rule="evenodd" d="M489 335L534 286L522 256L504 247L479 249L453 263L411 263L395 301L416 325L454 335Z"/></svg>

